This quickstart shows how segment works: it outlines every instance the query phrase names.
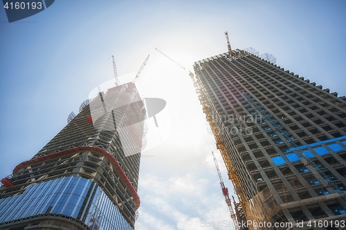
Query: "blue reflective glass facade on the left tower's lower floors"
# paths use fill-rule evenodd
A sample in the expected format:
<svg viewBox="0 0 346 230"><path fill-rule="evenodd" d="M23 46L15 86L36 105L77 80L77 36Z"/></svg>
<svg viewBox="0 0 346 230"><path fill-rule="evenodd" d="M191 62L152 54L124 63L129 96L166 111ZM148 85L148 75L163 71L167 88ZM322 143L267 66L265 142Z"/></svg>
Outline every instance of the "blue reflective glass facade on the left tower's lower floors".
<svg viewBox="0 0 346 230"><path fill-rule="evenodd" d="M85 178L71 176L33 184L24 193L0 202L2 223L62 215L90 229L132 229L101 187Z"/></svg>

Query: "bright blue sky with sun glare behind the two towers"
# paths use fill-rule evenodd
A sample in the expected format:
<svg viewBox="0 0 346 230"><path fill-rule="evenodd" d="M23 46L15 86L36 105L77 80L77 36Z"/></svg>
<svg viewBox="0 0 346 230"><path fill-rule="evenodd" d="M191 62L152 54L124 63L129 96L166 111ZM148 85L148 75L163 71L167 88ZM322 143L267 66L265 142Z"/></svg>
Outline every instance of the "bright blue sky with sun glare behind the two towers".
<svg viewBox="0 0 346 230"><path fill-rule="evenodd" d="M154 157L141 162L136 229L231 229L201 226L230 220L210 154L217 151L190 77L155 48L192 70L194 61L227 51L228 30L233 48L271 53L285 69L346 95L345 10L346 1L56 0L13 23L0 10L0 177L113 78L111 55L125 75L150 54L138 88L166 100L163 130L149 126L165 138L143 152ZM219 165L226 180L221 157Z"/></svg>

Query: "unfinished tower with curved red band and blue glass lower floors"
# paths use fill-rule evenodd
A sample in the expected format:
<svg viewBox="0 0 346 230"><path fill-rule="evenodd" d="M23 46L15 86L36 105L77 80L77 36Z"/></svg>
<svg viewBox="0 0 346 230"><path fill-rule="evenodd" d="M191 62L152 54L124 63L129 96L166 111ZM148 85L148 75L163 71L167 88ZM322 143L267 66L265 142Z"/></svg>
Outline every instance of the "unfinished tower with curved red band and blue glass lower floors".
<svg viewBox="0 0 346 230"><path fill-rule="evenodd" d="M100 92L0 188L0 229L134 229L146 111L133 83Z"/></svg>

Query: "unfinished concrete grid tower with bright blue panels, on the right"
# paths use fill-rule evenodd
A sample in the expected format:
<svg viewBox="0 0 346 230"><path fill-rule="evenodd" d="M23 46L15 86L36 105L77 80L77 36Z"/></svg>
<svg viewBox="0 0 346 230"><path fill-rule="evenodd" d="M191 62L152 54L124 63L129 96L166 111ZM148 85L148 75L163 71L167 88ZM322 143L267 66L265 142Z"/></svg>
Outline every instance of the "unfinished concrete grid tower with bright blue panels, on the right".
<svg viewBox="0 0 346 230"><path fill-rule="evenodd" d="M194 72L243 220L345 226L345 97L246 50L197 61Z"/></svg>

